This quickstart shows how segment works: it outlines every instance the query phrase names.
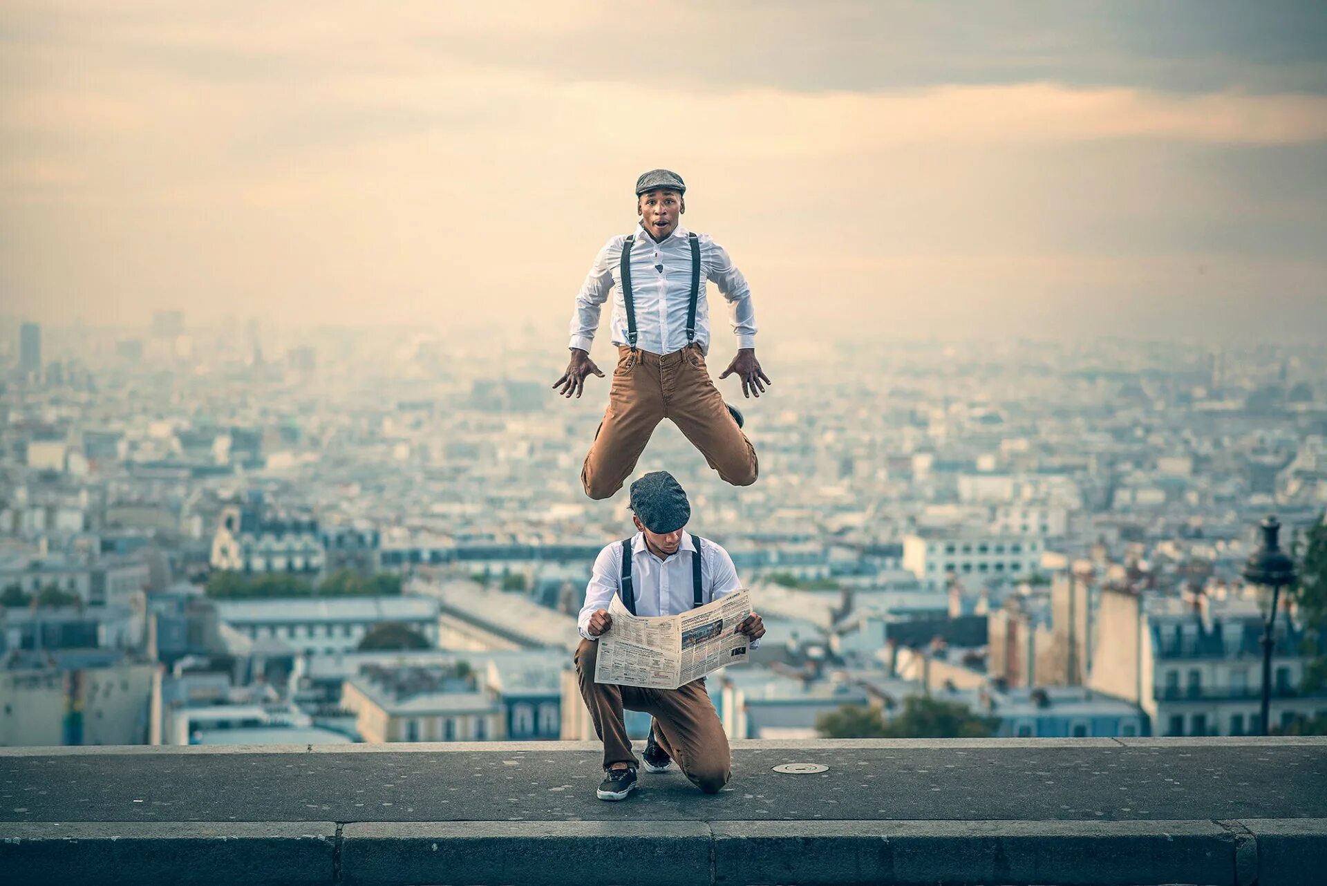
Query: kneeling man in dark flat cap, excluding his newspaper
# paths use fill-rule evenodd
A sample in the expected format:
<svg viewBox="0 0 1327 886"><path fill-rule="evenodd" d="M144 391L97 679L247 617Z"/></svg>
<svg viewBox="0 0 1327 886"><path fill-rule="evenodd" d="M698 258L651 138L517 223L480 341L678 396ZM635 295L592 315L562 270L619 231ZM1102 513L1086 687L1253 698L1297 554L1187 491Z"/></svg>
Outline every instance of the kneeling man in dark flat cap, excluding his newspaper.
<svg viewBox="0 0 1327 886"><path fill-rule="evenodd" d="M731 756L703 676L675 690L594 682L598 638L613 629L608 614L613 594L622 596L624 602L624 594L630 594L637 615L678 615L742 588L727 550L682 531L691 505L673 475L646 474L632 484L630 496L638 532L608 545L594 560L580 611L584 639L575 658L581 698L604 743L605 779L598 798L622 800L636 788L636 756L622 708L653 715L642 753L648 772L664 772L675 760L695 787L717 793L731 775ZM755 647L764 635L764 623L752 611L738 630Z"/></svg>

